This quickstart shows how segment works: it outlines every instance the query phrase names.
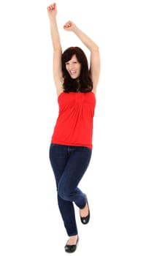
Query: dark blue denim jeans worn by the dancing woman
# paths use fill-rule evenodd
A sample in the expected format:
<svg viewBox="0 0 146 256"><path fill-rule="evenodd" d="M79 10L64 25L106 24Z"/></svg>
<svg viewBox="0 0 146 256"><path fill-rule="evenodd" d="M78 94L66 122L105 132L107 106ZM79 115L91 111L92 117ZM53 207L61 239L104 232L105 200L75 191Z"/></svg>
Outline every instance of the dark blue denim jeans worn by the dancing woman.
<svg viewBox="0 0 146 256"><path fill-rule="evenodd" d="M77 187L88 168L91 148L50 144L50 164L58 192L58 207L68 236L77 235L74 204L84 208L85 194Z"/></svg>

